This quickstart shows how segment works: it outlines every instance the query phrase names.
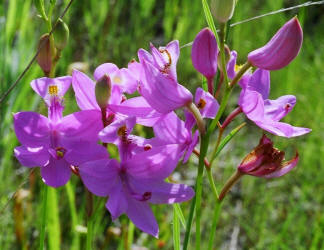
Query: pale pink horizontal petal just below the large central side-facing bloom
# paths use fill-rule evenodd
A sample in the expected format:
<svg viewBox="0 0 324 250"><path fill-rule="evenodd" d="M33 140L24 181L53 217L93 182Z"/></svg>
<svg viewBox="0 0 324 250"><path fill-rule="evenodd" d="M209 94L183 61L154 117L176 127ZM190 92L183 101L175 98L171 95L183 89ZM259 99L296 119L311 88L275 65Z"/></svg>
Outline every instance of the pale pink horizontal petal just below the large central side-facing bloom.
<svg viewBox="0 0 324 250"><path fill-rule="evenodd" d="M109 109L114 113L136 116L136 123L150 127L164 116L153 109L142 96L128 99L120 105L111 104Z"/></svg>

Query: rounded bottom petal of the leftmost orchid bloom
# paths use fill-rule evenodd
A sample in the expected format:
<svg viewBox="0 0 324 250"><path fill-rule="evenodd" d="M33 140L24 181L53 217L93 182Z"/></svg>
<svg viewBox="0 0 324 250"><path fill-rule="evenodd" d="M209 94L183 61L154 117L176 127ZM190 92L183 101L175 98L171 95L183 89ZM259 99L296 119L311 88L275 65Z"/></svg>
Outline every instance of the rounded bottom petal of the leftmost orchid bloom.
<svg viewBox="0 0 324 250"><path fill-rule="evenodd" d="M50 158L49 164L41 167L41 176L46 185L60 187L65 185L71 176L70 164L64 159Z"/></svg>

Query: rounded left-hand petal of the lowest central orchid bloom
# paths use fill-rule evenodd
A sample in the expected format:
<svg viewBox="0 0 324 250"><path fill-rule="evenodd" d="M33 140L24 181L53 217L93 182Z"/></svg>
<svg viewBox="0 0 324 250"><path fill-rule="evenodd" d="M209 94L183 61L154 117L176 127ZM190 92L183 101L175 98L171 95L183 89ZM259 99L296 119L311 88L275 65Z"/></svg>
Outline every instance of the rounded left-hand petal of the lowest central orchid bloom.
<svg viewBox="0 0 324 250"><path fill-rule="evenodd" d="M101 159L79 166L84 185L97 196L107 196L115 186L121 185L118 171L119 163L116 160Z"/></svg>

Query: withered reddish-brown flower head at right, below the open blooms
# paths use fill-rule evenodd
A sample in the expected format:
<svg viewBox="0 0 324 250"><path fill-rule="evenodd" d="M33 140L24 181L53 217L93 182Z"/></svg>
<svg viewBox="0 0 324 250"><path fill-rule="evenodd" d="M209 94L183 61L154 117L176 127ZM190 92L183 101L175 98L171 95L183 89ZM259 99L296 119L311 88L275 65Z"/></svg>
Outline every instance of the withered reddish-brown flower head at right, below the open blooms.
<svg viewBox="0 0 324 250"><path fill-rule="evenodd" d="M263 135L259 145L243 159L238 171L263 178L280 177L297 165L298 153L290 161L283 162L284 158L285 152L274 148L273 142Z"/></svg>

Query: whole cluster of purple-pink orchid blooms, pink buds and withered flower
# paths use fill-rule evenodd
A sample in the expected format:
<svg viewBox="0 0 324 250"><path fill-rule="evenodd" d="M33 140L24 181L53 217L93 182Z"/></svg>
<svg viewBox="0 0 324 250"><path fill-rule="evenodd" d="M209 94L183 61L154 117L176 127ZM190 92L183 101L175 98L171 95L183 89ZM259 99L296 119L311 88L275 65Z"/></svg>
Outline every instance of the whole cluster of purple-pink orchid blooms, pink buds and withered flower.
<svg viewBox="0 0 324 250"><path fill-rule="evenodd" d="M43 182L55 188L65 185L74 173L91 193L108 197L106 208L113 220L126 214L136 227L158 237L158 224L149 204L179 203L195 196L191 187L172 183L168 177L193 153L210 171L206 153L217 124L223 132L243 113L257 127L276 136L290 138L310 132L280 121L293 109L295 96L269 99L270 71L285 67L297 56L302 37L295 17L239 66L236 51L220 46L210 29L201 30L191 55L194 68L207 84L198 87L194 96L178 81L178 41L159 48L151 44L150 52L140 49L138 61L132 60L127 68L104 63L95 69L94 81L78 70L72 76L36 79L31 87L44 100L48 115L30 111L14 114L14 129L21 143L14 150L15 156L25 167L40 167ZM219 104L222 82L225 92ZM63 116L64 94L71 85L80 111ZM237 108L220 124L236 85L241 88ZM183 116L175 112L179 109ZM154 137L136 135L136 124L152 127ZM196 149L199 143L200 152ZM109 156L111 145L118 148L118 159ZM297 162L297 153L284 162L284 152L263 135L218 199L221 201L242 175L279 177ZM199 182L196 193L201 195Z"/></svg>

